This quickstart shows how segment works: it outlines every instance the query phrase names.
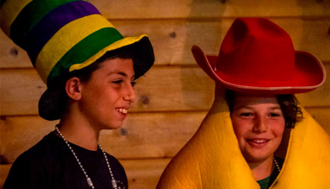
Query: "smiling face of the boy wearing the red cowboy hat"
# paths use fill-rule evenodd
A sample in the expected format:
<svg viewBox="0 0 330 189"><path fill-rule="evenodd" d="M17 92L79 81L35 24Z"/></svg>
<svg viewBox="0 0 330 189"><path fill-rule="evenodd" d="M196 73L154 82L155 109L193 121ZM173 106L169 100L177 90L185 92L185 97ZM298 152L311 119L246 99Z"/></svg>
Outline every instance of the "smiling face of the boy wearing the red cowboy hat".
<svg viewBox="0 0 330 189"><path fill-rule="evenodd" d="M273 158L284 132L285 120L275 95L235 92L231 120L240 150L247 162Z"/></svg>

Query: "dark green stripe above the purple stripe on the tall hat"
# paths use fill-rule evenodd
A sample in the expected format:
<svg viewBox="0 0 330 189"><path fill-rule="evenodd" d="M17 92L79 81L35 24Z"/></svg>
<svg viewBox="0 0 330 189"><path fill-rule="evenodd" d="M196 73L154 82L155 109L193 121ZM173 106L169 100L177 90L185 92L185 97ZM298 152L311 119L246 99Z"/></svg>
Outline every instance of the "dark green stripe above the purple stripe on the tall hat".
<svg viewBox="0 0 330 189"><path fill-rule="evenodd" d="M27 4L10 26L10 38L18 46L27 33L51 10L77 0L33 0ZM86 0L83 0L86 1Z"/></svg>

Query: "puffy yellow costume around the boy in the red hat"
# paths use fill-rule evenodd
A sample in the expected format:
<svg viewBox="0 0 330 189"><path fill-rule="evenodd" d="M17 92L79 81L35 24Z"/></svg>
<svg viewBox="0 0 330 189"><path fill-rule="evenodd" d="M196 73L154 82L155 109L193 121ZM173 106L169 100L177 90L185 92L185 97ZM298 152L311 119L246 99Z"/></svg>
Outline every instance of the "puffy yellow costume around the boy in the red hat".
<svg viewBox="0 0 330 189"><path fill-rule="evenodd" d="M217 85L215 101L190 141L163 172L157 189L259 189L238 146ZM330 136L302 108L304 119L291 130L287 153L272 189L330 188Z"/></svg>

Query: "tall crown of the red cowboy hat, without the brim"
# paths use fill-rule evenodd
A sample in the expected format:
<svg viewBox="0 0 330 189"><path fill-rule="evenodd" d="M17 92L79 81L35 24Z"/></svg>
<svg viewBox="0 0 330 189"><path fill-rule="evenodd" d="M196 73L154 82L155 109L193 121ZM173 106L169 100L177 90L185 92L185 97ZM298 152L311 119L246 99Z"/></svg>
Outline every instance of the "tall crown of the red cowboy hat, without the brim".
<svg viewBox="0 0 330 189"><path fill-rule="evenodd" d="M221 44L215 70L238 80L276 82L294 77L294 63L292 41L282 28L267 19L236 19Z"/></svg>

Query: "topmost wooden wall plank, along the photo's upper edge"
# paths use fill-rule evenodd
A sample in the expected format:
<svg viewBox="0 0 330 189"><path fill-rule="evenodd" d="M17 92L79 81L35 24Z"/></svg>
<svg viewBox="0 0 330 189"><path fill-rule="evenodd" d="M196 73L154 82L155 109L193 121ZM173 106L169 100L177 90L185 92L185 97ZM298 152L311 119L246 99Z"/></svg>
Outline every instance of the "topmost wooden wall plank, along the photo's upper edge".
<svg viewBox="0 0 330 189"><path fill-rule="evenodd" d="M329 16L328 0L91 0L107 18Z"/></svg>

